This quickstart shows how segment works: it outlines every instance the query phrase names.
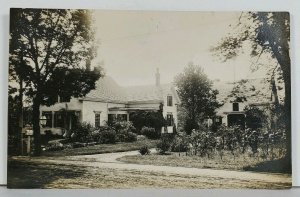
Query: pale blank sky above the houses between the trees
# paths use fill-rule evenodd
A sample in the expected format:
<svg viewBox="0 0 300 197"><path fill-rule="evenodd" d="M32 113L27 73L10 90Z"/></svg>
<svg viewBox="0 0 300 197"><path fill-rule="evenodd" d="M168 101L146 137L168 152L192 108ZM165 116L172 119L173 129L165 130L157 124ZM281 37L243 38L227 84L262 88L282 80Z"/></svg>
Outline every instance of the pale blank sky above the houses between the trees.
<svg viewBox="0 0 300 197"><path fill-rule="evenodd" d="M98 56L106 75L122 86L171 83L189 63L212 80L260 77L251 73L248 53L222 63L210 48L232 31L240 12L95 11ZM231 26L230 26L231 24Z"/></svg>

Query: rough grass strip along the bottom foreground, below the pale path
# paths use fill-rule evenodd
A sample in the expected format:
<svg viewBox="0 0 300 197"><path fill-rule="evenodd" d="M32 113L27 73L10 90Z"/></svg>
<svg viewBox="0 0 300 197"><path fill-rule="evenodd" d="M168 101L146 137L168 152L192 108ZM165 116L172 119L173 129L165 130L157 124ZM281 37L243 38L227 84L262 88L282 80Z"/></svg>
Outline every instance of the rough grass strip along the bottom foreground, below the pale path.
<svg viewBox="0 0 300 197"><path fill-rule="evenodd" d="M8 160L8 188L290 188L289 182Z"/></svg>

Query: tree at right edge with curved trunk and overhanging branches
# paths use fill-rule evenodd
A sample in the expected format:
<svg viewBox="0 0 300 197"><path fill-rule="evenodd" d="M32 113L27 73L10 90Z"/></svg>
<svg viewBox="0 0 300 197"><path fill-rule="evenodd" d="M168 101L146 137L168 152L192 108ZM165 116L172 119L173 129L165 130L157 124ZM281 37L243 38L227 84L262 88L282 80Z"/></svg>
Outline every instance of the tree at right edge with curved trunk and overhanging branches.
<svg viewBox="0 0 300 197"><path fill-rule="evenodd" d="M291 166L291 61L290 15L288 12L248 12L241 13L235 31L212 50L224 61L236 57L245 43L251 44L251 56L259 60L262 54L270 54L282 70L285 84L284 113L286 117L287 154ZM256 61L256 63L257 63Z"/></svg>

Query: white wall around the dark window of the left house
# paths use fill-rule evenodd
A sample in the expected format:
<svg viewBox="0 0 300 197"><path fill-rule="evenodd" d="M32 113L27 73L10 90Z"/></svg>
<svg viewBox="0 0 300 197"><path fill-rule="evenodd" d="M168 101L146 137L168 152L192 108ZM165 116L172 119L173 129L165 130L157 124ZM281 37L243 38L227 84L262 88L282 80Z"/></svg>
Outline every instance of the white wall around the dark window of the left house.
<svg viewBox="0 0 300 197"><path fill-rule="evenodd" d="M100 112L100 125L103 126L108 121L108 114L127 114L125 111L110 112L111 107L125 107L125 104L83 101L82 122L95 125L95 112Z"/></svg>

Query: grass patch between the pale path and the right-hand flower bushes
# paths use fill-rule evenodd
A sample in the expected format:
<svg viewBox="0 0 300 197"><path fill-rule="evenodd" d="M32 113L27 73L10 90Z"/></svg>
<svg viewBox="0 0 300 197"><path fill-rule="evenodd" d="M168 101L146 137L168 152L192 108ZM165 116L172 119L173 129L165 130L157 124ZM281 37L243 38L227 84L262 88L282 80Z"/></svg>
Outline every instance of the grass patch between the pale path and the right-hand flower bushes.
<svg viewBox="0 0 300 197"><path fill-rule="evenodd" d="M150 155L133 155L124 156L118 159L125 163L147 164L157 166L181 166L193 168L213 168L225 170L242 170L242 171L260 171L260 172L282 172L287 173L285 167L278 162L280 159L272 162L262 160L258 157L250 157L247 154L233 157L229 152L225 152L221 160L219 156L213 158L189 156L186 153L171 153L168 155L150 154ZM276 162L277 161L277 162ZM279 166L279 167L278 167ZM275 168L276 167L276 168ZM276 169L272 171L272 169Z"/></svg>

